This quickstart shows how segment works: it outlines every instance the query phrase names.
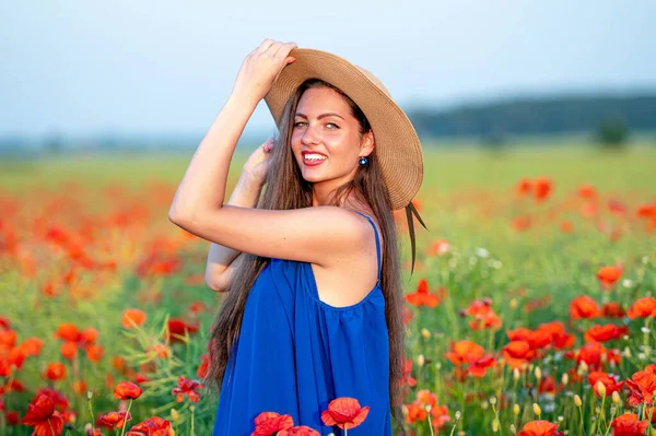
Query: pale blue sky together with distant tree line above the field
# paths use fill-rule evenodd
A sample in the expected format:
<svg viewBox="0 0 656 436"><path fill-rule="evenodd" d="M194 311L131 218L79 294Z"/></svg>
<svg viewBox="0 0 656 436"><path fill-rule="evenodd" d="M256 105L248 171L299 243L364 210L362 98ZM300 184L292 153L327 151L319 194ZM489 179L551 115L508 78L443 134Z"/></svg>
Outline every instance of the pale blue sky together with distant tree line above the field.
<svg viewBox="0 0 656 436"><path fill-rule="evenodd" d="M0 156L192 151L266 37L374 72L424 146L654 146L655 17L648 0L5 2ZM273 129L262 102L243 142Z"/></svg>

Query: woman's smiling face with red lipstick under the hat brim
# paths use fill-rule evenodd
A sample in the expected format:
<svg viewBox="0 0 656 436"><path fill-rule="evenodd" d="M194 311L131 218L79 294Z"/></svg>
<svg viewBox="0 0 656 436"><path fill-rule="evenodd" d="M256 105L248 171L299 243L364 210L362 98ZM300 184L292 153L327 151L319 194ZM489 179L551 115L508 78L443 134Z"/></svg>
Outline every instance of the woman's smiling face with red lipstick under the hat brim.
<svg viewBox="0 0 656 436"><path fill-rule="evenodd" d="M373 134L360 134L360 123L339 93L327 87L303 93L293 120L292 151L305 180L335 187L347 182L358 170L358 160L373 150Z"/></svg>

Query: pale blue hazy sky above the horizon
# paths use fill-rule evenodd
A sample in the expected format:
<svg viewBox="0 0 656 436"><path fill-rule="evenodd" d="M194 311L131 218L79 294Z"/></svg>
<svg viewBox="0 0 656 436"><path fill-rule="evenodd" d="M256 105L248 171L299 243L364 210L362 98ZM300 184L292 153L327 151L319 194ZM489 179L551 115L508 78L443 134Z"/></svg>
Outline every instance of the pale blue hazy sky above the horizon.
<svg viewBox="0 0 656 436"><path fill-rule="evenodd" d="M372 71L405 109L656 90L654 0L0 3L0 137L204 132L265 38ZM246 132L270 131L260 102Z"/></svg>

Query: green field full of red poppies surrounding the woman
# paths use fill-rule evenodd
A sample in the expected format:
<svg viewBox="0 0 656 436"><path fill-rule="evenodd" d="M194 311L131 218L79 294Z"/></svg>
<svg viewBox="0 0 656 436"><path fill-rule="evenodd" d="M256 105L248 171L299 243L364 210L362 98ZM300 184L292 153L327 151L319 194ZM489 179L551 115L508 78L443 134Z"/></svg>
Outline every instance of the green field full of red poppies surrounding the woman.
<svg viewBox="0 0 656 436"><path fill-rule="evenodd" d="M211 434L224 295L167 219L190 155L0 163L0 435ZM656 434L656 148L424 161L412 274L397 220L406 434ZM261 412L254 435L318 434ZM367 412L333 399L317 425L359 435Z"/></svg>

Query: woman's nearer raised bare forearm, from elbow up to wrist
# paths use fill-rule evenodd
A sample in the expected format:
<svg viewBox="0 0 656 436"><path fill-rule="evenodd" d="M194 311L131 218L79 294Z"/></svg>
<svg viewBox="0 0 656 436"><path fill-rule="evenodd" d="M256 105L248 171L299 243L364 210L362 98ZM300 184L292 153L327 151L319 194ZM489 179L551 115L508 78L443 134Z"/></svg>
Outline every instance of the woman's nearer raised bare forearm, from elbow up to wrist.
<svg viewBox="0 0 656 436"><path fill-rule="evenodd" d="M227 98L178 186L168 211L172 221L192 221L203 211L221 209L235 146L257 103L237 94Z"/></svg>

